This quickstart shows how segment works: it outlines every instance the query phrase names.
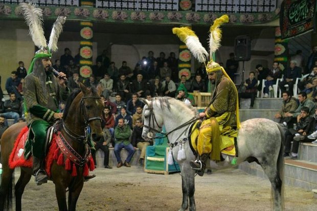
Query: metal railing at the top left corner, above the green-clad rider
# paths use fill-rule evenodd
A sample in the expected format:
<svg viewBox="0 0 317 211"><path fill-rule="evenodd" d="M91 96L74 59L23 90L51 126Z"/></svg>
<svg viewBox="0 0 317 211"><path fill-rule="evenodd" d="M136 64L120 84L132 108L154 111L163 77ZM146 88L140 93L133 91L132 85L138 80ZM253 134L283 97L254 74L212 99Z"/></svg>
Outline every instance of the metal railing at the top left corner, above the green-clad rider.
<svg viewBox="0 0 317 211"><path fill-rule="evenodd" d="M22 2L30 2L29 0L0 0L0 3L19 4ZM39 6L79 6L79 0L32 0Z"/></svg>

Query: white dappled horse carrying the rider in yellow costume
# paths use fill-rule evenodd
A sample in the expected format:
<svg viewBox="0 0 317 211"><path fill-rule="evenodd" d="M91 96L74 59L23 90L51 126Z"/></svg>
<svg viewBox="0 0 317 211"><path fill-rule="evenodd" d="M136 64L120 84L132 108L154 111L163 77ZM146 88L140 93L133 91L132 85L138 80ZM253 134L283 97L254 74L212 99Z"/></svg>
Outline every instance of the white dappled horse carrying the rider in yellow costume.
<svg viewBox="0 0 317 211"><path fill-rule="evenodd" d="M162 131L166 128L169 144L175 144L183 140L189 134L189 123L197 119L197 111L192 106L173 98L159 97L152 101L143 100L144 127L142 136L151 137L151 133ZM271 182L274 210L284 210L283 196L283 142L284 129L276 122L267 119L251 119L241 123L237 137L238 157L237 165L243 161L256 161ZM159 135L160 136L160 135ZM182 174L183 202L179 211L196 210L195 205L195 171L189 165L190 160L195 160L195 155L188 141L185 141L184 149L186 159L177 160L179 147L173 147L173 157L177 160ZM230 168L228 161L217 163L217 169ZM188 203L189 201L189 203Z"/></svg>

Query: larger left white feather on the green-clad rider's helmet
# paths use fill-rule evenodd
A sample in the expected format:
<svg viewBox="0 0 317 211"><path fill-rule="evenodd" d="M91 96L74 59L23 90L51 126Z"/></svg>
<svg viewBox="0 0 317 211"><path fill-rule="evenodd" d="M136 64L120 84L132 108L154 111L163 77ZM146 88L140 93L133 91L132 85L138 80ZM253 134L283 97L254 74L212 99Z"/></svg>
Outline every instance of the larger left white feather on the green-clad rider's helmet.
<svg viewBox="0 0 317 211"><path fill-rule="evenodd" d="M30 29L30 35L34 44L40 49L47 46L42 27L42 10L29 3L20 3L24 18Z"/></svg>

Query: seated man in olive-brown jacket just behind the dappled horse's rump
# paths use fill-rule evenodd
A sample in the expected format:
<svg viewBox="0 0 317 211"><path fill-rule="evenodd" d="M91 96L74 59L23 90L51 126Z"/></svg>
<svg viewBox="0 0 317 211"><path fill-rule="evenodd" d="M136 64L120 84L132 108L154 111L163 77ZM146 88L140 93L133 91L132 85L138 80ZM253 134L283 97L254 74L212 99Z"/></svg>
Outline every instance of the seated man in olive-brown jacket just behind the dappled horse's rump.
<svg viewBox="0 0 317 211"><path fill-rule="evenodd" d="M294 112L297 109L298 104L297 104L296 98L292 97L289 91L282 92L282 99L283 99L282 109L275 114L275 118L280 119L280 123L286 122L286 124L288 125L288 128L290 128L292 125L289 123L291 123L292 117L285 116L285 113Z"/></svg>

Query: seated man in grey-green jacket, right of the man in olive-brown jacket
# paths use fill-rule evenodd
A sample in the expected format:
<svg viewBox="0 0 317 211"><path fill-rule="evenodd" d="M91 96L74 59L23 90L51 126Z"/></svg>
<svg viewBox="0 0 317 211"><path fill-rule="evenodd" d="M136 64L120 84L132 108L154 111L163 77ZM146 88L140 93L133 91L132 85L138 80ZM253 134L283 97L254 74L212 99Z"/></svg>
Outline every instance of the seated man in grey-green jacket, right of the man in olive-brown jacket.
<svg viewBox="0 0 317 211"><path fill-rule="evenodd" d="M297 116L299 114L301 114L302 107L308 107L309 108L309 112L308 112L309 116L313 116L314 115L315 103L312 102L311 100L307 99L306 92L302 91L302 92L300 92L298 94L298 101L300 102L300 104L297 107L297 109L295 111L286 112L284 114L285 117L292 117L292 120L296 120Z"/></svg>

